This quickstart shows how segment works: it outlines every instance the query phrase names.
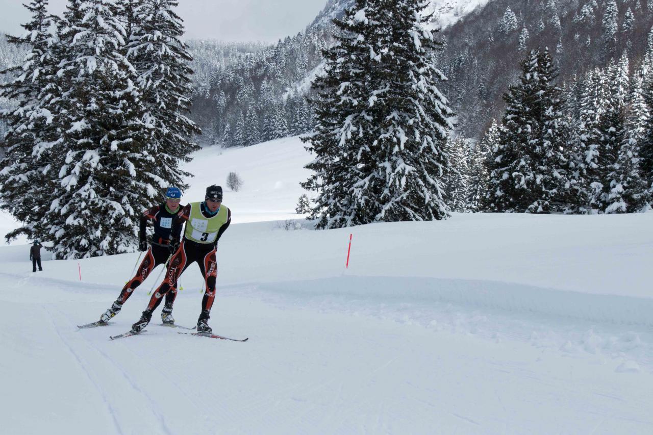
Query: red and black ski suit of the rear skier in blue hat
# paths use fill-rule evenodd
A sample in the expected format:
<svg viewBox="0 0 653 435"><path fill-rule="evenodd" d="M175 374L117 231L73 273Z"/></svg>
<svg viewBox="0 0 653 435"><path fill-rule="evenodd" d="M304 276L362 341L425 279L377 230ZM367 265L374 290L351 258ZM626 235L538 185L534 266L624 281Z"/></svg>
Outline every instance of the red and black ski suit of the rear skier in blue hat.
<svg viewBox="0 0 653 435"><path fill-rule="evenodd" d="M183 206L179 206L176 212L170 212L165 202L161 205L153 206L150 210L140 216L139 238L141 243L145 242L145 229L149 220L154 223L154 234L151 239L151 247L145 253L145 258L138 267L136 276L129 280L123 287L116 303L122 305L129 299L133 291L150 275L152 270L158 265L163 265L170 255L172 248L179 243L182 233L183 222L178 219ZM171 291L166 295L166 305L172 306L174 298L177 296L177 283L174 283Z"/></svg>

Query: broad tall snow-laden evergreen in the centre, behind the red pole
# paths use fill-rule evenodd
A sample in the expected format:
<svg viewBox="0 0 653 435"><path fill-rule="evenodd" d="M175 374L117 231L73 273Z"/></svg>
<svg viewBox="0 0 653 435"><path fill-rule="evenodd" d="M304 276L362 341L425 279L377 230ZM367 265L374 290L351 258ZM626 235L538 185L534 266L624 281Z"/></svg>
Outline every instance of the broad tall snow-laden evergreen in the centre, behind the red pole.
<svg viewBox="0 0 653 435"><path fill-rule="evenodd" d="M424 9L418 0L357 0L335 20L344 36L325 52L326 74L314 82L319 120L304 138L317 155L303 185L318 191L319 228L448 216L451 110L436 86L445 78Z"/></svg>

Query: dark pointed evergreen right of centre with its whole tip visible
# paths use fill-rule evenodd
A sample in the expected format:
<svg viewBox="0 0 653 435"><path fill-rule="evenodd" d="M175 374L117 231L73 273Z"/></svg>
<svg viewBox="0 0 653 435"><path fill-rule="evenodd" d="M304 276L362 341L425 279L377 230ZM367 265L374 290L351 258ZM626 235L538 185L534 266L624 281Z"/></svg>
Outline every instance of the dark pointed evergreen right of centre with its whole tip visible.
<svg viewBox="0 0 653 435"><path fill-rule="evenodd" d="M562 114L557 69L547 49L521 62L520 83L509 87L490 174L490 209L552 213L569 209L569 125Z"/></svg>

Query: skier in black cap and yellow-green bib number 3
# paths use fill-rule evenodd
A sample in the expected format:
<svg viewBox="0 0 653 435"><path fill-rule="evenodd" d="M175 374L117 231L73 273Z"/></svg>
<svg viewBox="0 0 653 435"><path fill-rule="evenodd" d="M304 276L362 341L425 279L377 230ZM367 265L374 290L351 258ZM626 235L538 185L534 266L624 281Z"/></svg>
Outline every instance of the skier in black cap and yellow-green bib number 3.
<svg viewBox="0 0 653 435"><path fill-rule="evenodd" d="M197 261L204 276L202 312L197 320L197 332L212 332L208 326L209 314L215 298L217 242L231 223L231 210L222 204L222 187L206 188L204 202L191 202L180 212L178 219L185 221L182 242L170 259L166 276L150 299L148 308L134 325L132 332L140 332L150 323L152 312L161 304L163 295L174 287L183 271Z"/></svg>

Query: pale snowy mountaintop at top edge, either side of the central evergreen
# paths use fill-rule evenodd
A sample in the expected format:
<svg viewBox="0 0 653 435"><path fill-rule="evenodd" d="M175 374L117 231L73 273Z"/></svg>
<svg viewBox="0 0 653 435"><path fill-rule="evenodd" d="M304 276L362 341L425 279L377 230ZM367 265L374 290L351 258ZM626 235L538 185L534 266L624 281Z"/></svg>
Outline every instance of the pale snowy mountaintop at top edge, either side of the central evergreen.
<svg viewBox="0 0 653 435"><path fill-rule="evenodd" d="M434 27L444 28L454 24L475 8L484 6L490 0L430 0L426 12L432 14ZM329 0L325 8L315 17L311 25L324 25L333 18L340 18L354 0Z"/></svg>

